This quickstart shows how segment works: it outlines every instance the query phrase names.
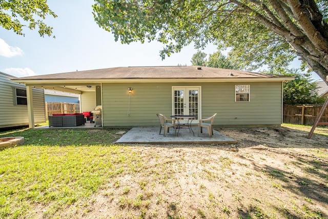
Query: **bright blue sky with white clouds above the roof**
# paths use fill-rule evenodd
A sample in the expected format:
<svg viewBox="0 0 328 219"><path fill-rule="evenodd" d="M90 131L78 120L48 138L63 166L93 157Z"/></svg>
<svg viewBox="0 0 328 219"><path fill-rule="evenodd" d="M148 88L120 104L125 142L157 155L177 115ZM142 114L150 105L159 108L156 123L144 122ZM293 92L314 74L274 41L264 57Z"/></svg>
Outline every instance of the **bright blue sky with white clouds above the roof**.
<svg viewBox="0 0 328 219"><path fill-rule="evenodd" d="M40 37L37 30L28 28L24 37L0 27L0 71L21 77L123 66L191 65L197 52L192 45L162 61L160 43L115 42L110 32L95 23L93 4L92 0L48 1L58 17L49 16L45 22L53 27L56 38ZM215 51L214 45L203 50L207 54ZM299 68L299 62L292 67Z"/></svg>

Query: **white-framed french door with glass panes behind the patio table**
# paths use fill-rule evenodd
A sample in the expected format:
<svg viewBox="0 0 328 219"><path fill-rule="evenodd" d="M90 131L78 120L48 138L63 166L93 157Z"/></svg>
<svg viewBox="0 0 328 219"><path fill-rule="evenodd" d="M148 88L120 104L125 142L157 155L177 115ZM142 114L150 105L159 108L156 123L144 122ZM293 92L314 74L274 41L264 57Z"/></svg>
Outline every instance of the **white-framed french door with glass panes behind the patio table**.
<svg viewBox="0 0 328 219"><path fill-rule="evenodd" d="M172 114L173 115L196 115L200 112L200 87L172 87ZM181 119L181 123L187 123Z"/></svg>

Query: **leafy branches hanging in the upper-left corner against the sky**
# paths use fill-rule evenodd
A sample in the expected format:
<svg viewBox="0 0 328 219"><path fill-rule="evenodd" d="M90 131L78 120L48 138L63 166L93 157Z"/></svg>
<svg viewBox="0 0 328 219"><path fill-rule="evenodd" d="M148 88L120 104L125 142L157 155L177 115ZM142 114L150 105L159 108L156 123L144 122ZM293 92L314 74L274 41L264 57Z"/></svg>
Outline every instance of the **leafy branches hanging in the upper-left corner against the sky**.
<svg viewBox="0 0 328 219"><path fill-rule="evenodd" d="M27 26L31 30L37 28L40 36L51 36L53 28L43 22L47 15L57 17L47 0L0 0L0 26L18 35L24 36L23 27Z"/></svg>

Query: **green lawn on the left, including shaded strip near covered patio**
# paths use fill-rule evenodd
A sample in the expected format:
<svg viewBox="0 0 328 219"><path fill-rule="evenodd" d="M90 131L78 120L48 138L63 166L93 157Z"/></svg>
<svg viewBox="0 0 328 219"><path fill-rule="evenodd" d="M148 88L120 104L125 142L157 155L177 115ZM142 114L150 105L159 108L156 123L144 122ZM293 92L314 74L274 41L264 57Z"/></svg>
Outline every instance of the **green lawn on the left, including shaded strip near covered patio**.
<svg viewBox="0 0 328 219"><path fill-rule="evenodd" d="M88 197L137 157L112 145L117 130L20 129L0 137L24 136L24 146L1 151L0 218L26 217L35 204L52 215ZM65 146L65 147L64 147Z"/></svg>

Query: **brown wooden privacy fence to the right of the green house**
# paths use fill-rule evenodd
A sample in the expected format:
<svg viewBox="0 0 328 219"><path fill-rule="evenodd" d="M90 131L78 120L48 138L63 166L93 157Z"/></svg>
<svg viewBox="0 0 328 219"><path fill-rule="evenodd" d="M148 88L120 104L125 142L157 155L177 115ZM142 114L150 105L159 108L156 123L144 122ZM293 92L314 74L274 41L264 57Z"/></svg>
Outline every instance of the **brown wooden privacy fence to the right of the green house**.
<svg viewBox="0 0 328 219"><path fill-rule="evenodd" d="M283 105L283 123L312 126L323 104ZM328 123L328 107L321 116L320 123Z"/></svg>

